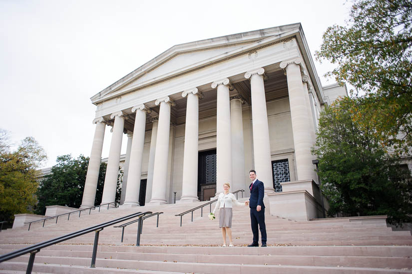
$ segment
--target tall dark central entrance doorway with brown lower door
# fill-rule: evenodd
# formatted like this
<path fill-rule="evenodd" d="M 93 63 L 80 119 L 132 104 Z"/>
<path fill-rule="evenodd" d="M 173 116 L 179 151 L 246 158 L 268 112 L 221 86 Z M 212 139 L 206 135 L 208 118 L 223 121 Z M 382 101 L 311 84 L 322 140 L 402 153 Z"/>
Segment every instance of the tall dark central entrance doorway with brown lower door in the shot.
<path fill-rule="evenodd" d="M 197 170 L 197 196 L 209 201 L 216 193 L 216 149 L 199 152 Z"/>

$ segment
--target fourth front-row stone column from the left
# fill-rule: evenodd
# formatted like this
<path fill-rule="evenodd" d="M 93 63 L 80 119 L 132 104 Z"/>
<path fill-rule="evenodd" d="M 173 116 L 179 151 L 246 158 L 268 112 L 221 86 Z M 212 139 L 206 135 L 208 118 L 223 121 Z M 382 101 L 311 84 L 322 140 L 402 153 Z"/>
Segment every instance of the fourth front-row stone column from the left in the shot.
<path fill-rule="evenodd" d="M 166 204 L 167 160 L 169 155 L 170 108 L 175 103 L 164 97 L 155 101 L 160 104 L 157 127 L 156 152 L 153 167 L 152 198 L 150 203 Z"/>

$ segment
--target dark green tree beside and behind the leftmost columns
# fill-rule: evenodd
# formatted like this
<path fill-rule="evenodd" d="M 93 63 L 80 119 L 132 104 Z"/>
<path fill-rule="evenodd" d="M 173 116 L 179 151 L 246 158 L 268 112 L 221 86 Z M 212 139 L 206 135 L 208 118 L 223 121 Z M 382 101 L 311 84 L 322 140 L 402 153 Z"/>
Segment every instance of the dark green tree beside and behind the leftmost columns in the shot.
<path fill-rule="evenodd" d="M 44 176 L 37 190 L 38 204 L 36 213 L 44 215 L 46 206 L 59 205 L 79 208 L 81 205 L 84 183 L 86 181 L 89 158 L 80 155 L 77 159 L 71 155 L 58 156 L 57 164 L 51 168 L 51 173 Z M 100 164 L 95 205 L 101 203 L 106 163 Z M 120 183 L 122 172 L 117 180 L 116 202 L 120 201 Z"/>

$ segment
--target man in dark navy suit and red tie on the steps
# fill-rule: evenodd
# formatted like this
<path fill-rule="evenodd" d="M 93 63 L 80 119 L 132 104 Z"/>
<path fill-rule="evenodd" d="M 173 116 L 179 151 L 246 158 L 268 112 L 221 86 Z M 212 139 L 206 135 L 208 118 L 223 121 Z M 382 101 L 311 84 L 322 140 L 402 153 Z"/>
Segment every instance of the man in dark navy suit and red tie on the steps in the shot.
<path fill-rule="evenodd" d="M 250 184 L 250 198 L 246 201 L 250 208 L 250 222 L 253 233 L 253 243 L 248 247 L 259 247 L 259 230 L 262 236 L 262 246 L 266 247 L 266 225 L 265 225 L 265 204 L 263 197 L 265 195 L 265 187 L 263 182 L 256 179 L 256 171 L 253 169 L 249 172 L 249 178 L 252 180 Z"/>

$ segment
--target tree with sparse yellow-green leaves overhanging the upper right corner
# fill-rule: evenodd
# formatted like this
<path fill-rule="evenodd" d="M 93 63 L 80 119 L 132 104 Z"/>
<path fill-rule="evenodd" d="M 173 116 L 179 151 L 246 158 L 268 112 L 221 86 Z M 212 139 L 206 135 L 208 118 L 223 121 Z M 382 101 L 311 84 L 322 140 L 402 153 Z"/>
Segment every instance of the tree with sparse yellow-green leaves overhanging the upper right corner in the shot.
<path fill-rule="evenodd" d="M 412 148 L 412 1 L 354 0 L 346 26 L 323 35 L 316 57 L 337 68 L 326 75 L 358 92 L 352 119 L 399 154 Z M 359 91 L 364 93 L 360 95 Z"/>

